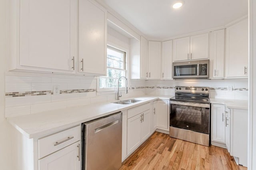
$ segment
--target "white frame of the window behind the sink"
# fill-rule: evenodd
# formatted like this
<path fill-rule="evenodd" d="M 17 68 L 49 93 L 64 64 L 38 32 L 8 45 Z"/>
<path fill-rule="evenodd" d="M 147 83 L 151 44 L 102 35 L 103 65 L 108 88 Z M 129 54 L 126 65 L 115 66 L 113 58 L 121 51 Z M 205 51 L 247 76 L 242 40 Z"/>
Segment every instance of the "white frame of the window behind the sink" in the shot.
<path fill-rule="evenodd" d="M 108 43 L 107 45 L 107 48 L 111 48 L 113 50 L 116 50 L 116 51 L 122 51 L 124 52 L 124 69 L 118 69 L 118 68 L 115 68 L 115 67 L 108 67 L 106 66 L 106 69 L 110 68 L 110 69 L 116 69 L 116 70 L 122 70 L 124 71 L 124 76 L 128 78 L 128 50 L 122 48 L 122 47 L 117 47 L 117 45 L 110 45 Z M 106 55 L 106 62 L 107 62 L 107 59 L 108 59 L 108 55 Z M 110 58 L 111 59 L 111 58 Z M 115 93 L 115 91 L 117 91 L 117 87 L 109 87 L 109 88 L 100 88 L 100 78 L 103 77 L 103 78 L 107 78 L 105 76 L 100 76 L 100 77 L 97 77 L 97 94 L 101 94 L 101 92 L 103 92 L 103 94 L 112 94 L 112 93 Z M 113 79 L 118 79 L 118 78 L 113 78 Z M 125 87 L 119 87 L 119 90 L 120 91 L 125 91 L 126 88 Z M 105 93 L 104 93 L 105 92 Z"/>

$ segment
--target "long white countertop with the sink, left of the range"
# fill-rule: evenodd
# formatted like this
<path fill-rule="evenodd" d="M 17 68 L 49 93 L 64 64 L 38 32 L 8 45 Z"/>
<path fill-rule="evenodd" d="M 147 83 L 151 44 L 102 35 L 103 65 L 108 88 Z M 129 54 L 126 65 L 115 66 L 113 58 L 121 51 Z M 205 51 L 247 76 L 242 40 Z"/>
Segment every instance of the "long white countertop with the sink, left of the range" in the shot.
<path fill-rule="evenodd" d="M 74 127 L 81 123 L 91 121 L 118 111 L 130 109 L 154 101 L 157 99 L 169 100 L 173 96 L 142 96 L 132 99 L 142 100 L 137 103 L 120 105 L 115 103 L 96 103 L 67 109 L 58 109 L 36 114 L 23 115 L 19 117 L 7 118 L 7 121 L 28 138 L 36 138 Z M 131 98 L 129 98 L 131 99 Z M 122 99 L 125 100 L 125 99 Z"/>

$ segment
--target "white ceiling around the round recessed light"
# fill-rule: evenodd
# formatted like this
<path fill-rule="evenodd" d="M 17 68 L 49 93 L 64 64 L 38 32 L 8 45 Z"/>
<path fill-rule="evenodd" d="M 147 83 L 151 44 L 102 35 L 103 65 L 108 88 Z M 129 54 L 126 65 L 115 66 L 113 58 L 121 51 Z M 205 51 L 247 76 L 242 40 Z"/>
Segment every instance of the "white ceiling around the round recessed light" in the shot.
<path fill-rule="evenodd" d="M 101 0 L 148 39 L 164 40 L 224 26 L 248 14 L 247 0 Z"/>

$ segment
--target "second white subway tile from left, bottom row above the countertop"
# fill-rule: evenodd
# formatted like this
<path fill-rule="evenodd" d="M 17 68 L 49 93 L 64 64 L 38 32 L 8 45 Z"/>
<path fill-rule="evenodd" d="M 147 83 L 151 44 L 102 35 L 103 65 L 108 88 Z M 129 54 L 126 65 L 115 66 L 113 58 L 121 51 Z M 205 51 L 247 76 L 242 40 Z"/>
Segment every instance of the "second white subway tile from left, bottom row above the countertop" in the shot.
<path fill-rule="evenodd" d="M 66 101 L 42 103 L 37 105 L 31 105 L 31 113 L 40 113 L 43 111 L 51 111 L 56 109 L 65 109 L 67 107 Z"/>

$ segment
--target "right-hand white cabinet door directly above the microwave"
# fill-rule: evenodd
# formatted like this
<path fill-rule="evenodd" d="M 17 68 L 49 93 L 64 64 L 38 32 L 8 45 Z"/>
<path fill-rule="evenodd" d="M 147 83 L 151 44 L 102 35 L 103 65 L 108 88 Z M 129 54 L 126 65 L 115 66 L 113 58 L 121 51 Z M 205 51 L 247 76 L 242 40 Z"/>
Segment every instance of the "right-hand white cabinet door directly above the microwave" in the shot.
<path fill-rule="evenodd" d="M 209 58 L 209 33 L 190 37 L 190 59 Z"/>

